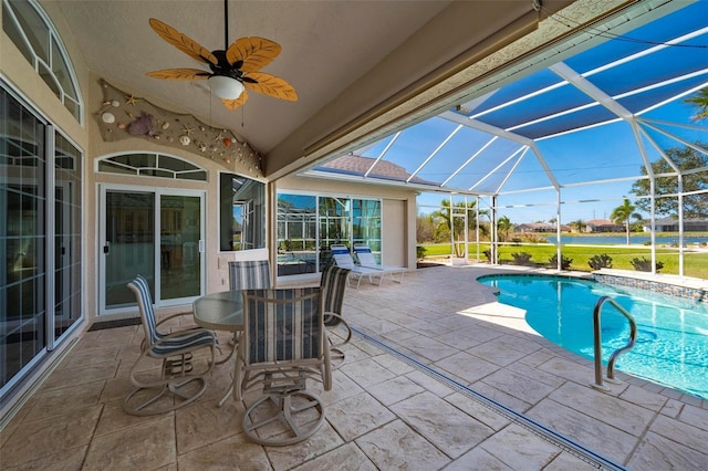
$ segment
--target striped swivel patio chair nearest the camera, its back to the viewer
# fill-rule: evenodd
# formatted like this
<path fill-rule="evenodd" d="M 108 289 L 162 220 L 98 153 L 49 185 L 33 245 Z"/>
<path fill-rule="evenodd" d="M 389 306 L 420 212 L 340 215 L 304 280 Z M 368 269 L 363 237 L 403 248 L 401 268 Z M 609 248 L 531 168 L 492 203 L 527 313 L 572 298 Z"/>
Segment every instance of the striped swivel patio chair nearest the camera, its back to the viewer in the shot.
<path fill-rule="evenodd" d="M 324 422 L 324 404 L 306 380 L 332 388 L 322 291 L 319 287 L 247 290 L 243 335 L 236 360 L 236 400 L 260 389 L 248 406 L 243 432 L 261 444 L 302 441 Z M 280 426 L 280 427 L 278 427 Z"/>

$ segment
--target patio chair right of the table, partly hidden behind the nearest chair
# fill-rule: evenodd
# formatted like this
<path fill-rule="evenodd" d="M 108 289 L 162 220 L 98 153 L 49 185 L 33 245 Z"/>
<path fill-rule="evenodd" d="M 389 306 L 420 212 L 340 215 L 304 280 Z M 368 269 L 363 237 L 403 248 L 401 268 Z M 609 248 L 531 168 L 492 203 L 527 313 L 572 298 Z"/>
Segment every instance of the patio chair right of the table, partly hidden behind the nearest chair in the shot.
<path fill-rule="evenodd" d="M 339 368 L 344 363 L 345 356 L 342 346 L 352 339 L 352 329 L 342 317 L 344 291 L 348 284 L 348 269 L 330 265 L 322 271 L 322 279 L 320 280 L 320 289 L 322 290 L 322 297 L 324 299 L 324 325 L 330 332 L 333 332 L 337 327 L 344 328 L 343 334 L 339 332 L 333 333 L 337 338 L 343 338 L 342 342 L 334 343 L 332 342 L 333 335 L 329 336 L 330 360 L 333 369 Z"/>

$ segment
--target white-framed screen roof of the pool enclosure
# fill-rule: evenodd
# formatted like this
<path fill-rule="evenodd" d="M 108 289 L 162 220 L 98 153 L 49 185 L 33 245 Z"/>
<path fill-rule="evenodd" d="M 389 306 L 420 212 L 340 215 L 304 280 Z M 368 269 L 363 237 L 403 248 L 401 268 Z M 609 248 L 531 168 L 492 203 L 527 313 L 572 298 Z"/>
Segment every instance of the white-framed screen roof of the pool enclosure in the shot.
<path fill-rule="evenodd" d="M 708 154 L 685 103 L 708 86 L 708 4 L 642 3 L 304 175 L 509 195 L 634 181 L 671 147 Z"/>

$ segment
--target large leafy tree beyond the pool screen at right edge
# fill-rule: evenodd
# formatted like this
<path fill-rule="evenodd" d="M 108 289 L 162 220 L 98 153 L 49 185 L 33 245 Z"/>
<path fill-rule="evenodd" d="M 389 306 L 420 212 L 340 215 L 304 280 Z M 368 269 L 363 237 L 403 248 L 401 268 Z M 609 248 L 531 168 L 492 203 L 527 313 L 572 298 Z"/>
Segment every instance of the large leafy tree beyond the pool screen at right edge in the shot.
<path fill-rule="evenodd" d="M 706 148 L 701 143 L 696 143 L 697 147 Z M 698 153 L 690 147 L 673 147 L 666 150 L 666 156 L 670 158 L 680 170 L 691 170 L 708 167 L 708 155 Z M 674 169 L 666 160 L 658 159 L 652 163 L 654 175 L 673 174 Z M 642 167 L 642 174 L 647 175 L 646 168 Z M 684 175 L 684 192 L 699 191 L 708 189 L 708 171 Z M 648 179 L 637 180 L 632 185 L 632 192 L 636 196 L 649 196 L 650 186 Z M 676 195 L 678 192 L 677 177 L 656 178 L 656 213 L 657 216 L 678 214 L 678 198 L 659 198 L 662 195 Z M 649 199 L 636 201 L 637 209 L 650 212 L 652 202 Z M 708 218 L 708 198 L 705 193 L 686 195 L 684 197 L 684 216 L 686 218 Z"/>

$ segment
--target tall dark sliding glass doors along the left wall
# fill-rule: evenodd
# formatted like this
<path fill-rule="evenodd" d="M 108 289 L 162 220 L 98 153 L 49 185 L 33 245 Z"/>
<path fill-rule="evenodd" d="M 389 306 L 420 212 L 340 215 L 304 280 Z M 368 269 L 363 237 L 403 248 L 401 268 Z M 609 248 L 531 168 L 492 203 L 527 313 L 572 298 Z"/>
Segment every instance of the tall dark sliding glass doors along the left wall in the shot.
<path fill-rule="evenodd" d="M 0 406 L 83 317 L 82 166 L 0 82 Z"/>

